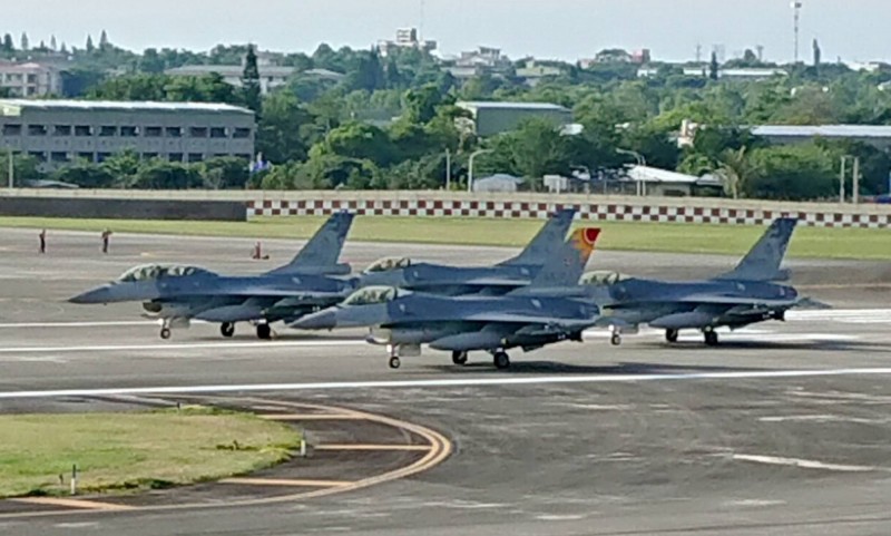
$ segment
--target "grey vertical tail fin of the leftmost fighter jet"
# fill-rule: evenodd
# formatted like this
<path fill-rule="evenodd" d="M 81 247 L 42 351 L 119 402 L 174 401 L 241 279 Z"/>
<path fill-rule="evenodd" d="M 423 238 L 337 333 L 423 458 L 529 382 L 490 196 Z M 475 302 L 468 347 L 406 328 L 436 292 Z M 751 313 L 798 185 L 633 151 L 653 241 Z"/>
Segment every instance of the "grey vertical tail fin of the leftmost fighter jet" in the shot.
<path fill-rule="evenodd" d="M 349 264 L 337 264 L 346 234 L 353 224 L 353 215 L 349 212 L 333 214 L 315 232 L 306 245 L 286 265 L 270 272 L 271 274 L 316 274 L 345 275 L 351 269 Z"/>

